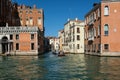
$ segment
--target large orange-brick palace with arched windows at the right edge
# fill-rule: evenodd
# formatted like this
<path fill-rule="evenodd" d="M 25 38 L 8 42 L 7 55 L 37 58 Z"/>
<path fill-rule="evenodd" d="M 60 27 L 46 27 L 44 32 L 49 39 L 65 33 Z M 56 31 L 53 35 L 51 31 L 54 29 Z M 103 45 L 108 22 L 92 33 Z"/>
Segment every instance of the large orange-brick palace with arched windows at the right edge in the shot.
<path fill-rule="evenodd" d="M 85 16 L 85 53 L 120 56 L 119 0 L 102 0 Z"/>

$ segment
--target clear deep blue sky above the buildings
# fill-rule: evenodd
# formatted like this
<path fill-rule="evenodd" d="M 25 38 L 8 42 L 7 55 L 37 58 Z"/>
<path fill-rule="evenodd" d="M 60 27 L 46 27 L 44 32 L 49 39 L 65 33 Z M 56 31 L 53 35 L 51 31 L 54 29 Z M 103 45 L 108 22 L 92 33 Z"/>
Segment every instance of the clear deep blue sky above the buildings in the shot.
<path fill-rule="evenodd" d="M 93 3 L 101 0 L 12 0 L 18 4 L 36 5 L 44 10 L 45 36 L 58 36 L 69 19 L 84 20 L 84 16 L 93 8 Z"/>

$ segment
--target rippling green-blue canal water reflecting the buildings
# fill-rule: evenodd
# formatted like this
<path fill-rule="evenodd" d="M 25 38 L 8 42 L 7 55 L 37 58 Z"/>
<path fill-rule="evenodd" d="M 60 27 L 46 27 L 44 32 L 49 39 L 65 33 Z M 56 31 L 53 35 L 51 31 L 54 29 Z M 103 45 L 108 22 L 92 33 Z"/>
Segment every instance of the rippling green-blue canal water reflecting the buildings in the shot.
<path fill-rule="evenodd" d="M 0 80 L 120 80 L 120 57 L 0 56 Z"/>

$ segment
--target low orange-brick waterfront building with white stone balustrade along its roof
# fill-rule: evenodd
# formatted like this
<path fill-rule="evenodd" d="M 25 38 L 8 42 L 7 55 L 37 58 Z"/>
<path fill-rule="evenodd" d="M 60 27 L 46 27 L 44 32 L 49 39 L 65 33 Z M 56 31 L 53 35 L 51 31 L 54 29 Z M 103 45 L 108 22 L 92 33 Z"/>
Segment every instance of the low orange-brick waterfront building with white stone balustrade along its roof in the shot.
<path fill-rule="evenodd" d="M 38 27 L 0 27 L 0 53 L 38 55 Z"/>

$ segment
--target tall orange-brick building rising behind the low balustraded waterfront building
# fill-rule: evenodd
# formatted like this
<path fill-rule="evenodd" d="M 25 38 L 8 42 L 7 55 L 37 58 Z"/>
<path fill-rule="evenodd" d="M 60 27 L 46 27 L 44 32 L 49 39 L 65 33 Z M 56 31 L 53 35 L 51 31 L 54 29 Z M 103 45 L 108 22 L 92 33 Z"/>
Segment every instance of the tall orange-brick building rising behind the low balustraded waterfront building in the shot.
<path fill-rule="evenodd" d="M 33 7 L 20 5 L 18 6 L 21 26 L 38 26 L 44 35 L 44 12 L 43 9 L 37 9 L 36 5 Z"/>

